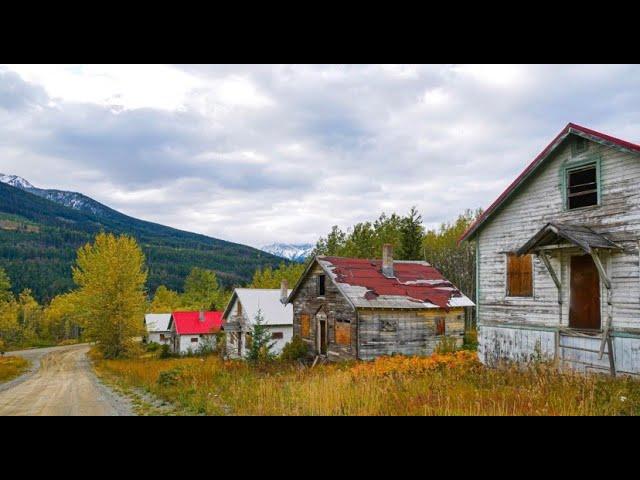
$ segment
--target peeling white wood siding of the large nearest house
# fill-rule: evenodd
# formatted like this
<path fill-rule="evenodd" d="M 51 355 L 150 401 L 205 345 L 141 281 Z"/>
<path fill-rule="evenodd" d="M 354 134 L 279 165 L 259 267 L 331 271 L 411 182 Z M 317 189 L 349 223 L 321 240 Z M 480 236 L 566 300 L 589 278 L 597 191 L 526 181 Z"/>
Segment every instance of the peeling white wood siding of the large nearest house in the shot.
<path fill-rule="evenodd" d="M 533 334 L 525 335 L 514 331 L 507 335 L 504 328 L 501 328 L 499 335 L 507 335 L 508 338 L 496 340 L 496 331 L 486 328 L 492 324 L 504 327 L 505 324 L 513 323 L 541 328 L 568 325 L 570 256 L 580 253 L 578 250 L 558 250 L 550 256 L 551 264 L 562 283 L 562 307 L 558 304 L 553 280 L 535 256 L 533 296 L 516 298 L 507 295 L 506 252 L 522 246 L 547 222 L 553 221 L 590 226 L 598 232 L 606 232 L 611 240 L 624 247 L 623 252 L 603 254 L 605 269 L 612 281 L 613 328 L 631 334 L 640 332 L 640 158 L 595 142 L 589 142 L 586 152 L 574 155 L 572 141 L 573 138 L 570 137 L 477 235 L 477 320 L 481 352 L 487 351 L 493 342 L 498 341 L 502 342 L 501 348 L 507 348 L 507 344 L 510 344 L 510 348 L 515 349 L 514 357 L 534 353 L 531 348 L 536 342 L 532 343 L 529 339 L 529 335 Z M 596 158 L 600 159 L 601 168 L 600 205 L 564 210 L 563 166 Z M 603 285 L 601 308 L 604 322 L 607 317 L 607 302 Z M 620 348 L 627 345 L 625 342 L 618 344 Z M 626 360 L 628 361 L 630 360 Z M 635 370 L 640 371 L 640 363 Z"/>

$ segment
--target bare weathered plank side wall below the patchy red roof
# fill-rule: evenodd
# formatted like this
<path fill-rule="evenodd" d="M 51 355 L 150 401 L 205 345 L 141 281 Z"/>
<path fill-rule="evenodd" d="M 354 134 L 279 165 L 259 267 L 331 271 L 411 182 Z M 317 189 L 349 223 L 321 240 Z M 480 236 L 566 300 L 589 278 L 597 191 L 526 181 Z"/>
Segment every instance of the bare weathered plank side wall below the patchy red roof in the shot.
<path fill-rule="evenodd" d="M 436 319 L 445 319 L 445 335 L 462 345 L 464 309 L 360 310 L 360 358 L 381 355 L 431 355 L 442 337 Z"/>

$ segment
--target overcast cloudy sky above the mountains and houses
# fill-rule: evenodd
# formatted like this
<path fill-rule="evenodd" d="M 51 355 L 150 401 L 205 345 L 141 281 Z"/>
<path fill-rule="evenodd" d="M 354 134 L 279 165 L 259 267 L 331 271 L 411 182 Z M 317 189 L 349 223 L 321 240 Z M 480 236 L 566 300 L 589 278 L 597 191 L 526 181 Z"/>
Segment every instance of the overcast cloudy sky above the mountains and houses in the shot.
<path fill-rule="evenodd" d="M 486 207 L 568 122 L 640 141 L 640 67 L 4 65 L 0 172 L 173 227 L 315 242 Z"/>

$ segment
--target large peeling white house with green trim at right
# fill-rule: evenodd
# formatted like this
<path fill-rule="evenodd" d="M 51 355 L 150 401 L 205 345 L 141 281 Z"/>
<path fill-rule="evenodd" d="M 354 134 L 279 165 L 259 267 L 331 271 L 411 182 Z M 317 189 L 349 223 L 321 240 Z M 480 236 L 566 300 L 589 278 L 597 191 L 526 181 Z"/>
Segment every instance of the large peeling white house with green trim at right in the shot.
<path fill-rule="evenodd" d="M 465 232 L 479 355 L 640 373 L 640 146 L 569 124 Z"/>

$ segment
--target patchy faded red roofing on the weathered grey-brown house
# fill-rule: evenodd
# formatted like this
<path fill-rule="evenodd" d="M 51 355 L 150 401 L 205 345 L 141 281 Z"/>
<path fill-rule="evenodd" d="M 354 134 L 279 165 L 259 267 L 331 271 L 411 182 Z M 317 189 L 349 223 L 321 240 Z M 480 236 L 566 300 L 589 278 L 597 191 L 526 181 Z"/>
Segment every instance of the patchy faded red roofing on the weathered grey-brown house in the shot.
<path fill-rule="evenodd" d="M 374 300 L 380 295 L 397 295 L 448 309 L 451 297 L 461 296 L 451 282 L 426 262 L 394 262 L 395 278 L 387 278 L 382 274 L 381 260 L 319 258 L 335 267 L 333 273 L 337 282 L 367 288 L 369 291 L 365 298 L 368 300 Z"/>

